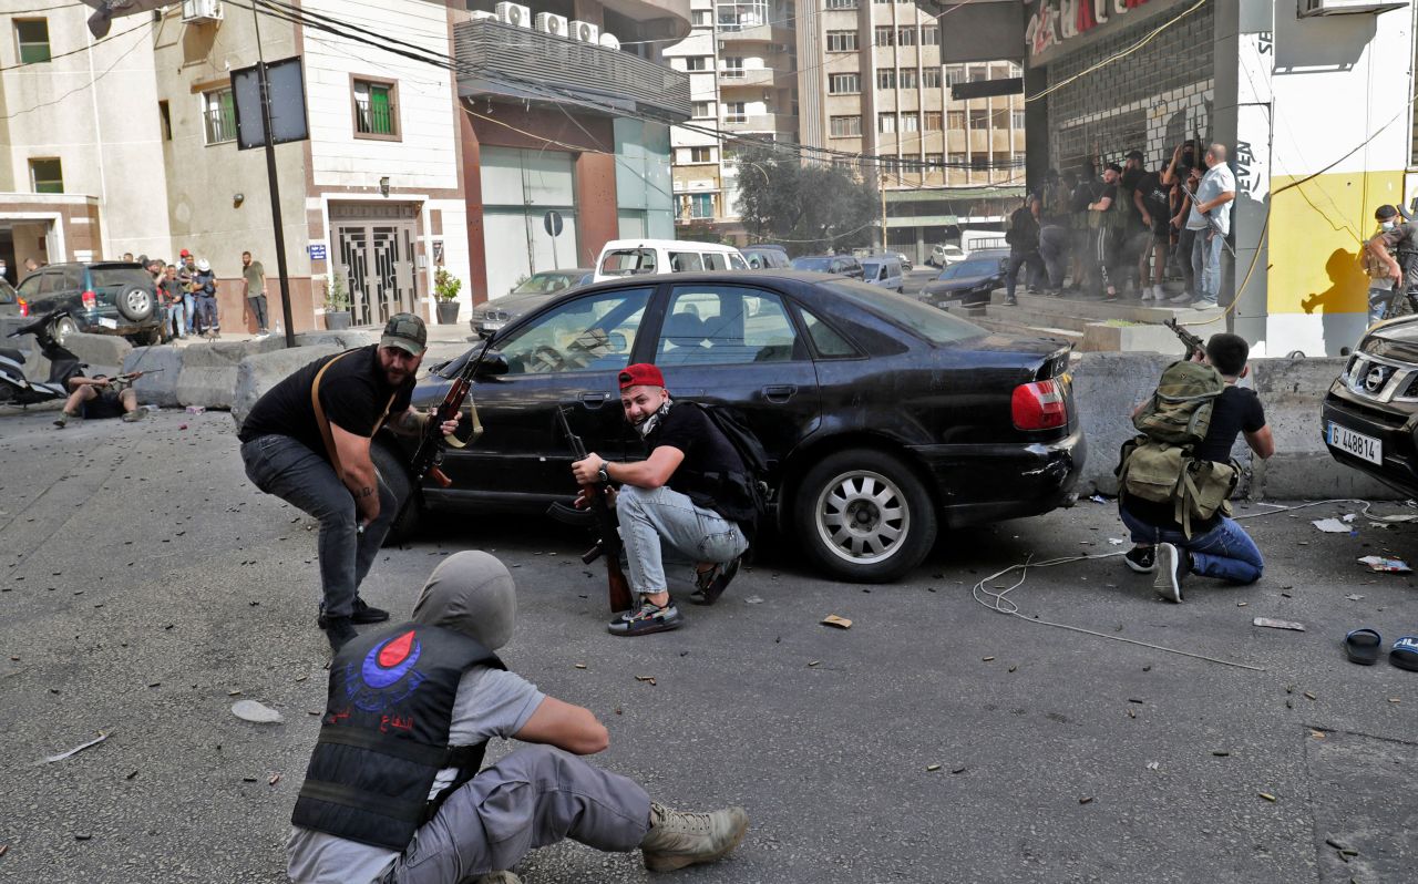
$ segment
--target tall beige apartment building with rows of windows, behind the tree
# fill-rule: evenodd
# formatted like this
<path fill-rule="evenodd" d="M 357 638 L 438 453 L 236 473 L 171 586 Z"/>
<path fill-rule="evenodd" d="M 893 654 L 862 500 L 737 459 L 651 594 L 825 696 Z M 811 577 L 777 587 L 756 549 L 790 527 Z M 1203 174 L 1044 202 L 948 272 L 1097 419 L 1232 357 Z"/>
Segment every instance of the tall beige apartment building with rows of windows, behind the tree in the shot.
<path fill-rule="evenodd" d="M 917 260 L 963 226 L 998 224 L 1024 193 L 1022 70 L 946 64 L 954 23 L 939 9 L 824 0 L 797 17 L 801 140 L 879 158 L 858 167 L 886 189 L 888 243 Z M 993 81 L 1010 94 L 951 95 Z"/>

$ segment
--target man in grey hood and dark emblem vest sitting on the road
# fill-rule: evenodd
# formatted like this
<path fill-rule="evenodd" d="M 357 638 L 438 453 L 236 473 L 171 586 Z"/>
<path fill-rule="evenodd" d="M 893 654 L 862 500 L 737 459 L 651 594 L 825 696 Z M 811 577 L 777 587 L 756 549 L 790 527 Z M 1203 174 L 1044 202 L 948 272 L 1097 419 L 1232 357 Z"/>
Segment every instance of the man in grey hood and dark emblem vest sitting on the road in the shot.
<path fill-rule="evenodd" d="M 610 735 L 590 709 L 503 667 L 493 651 L 515 617 L 502 562 L 459 552 L 428 578 L 411 621 L 336 654 L 288 843 L 292 881 L 516 884 L 508 870 L 529 850 L 567 837 L 640 847 L 652 871 L 719 860 L 739 844 L 742 807 L 671 810 L 577 758 L 604 751 Z M 478 770 L 492 736 L 540 745 Z M 417 800 L 394 795 L 407 783 Z"/>

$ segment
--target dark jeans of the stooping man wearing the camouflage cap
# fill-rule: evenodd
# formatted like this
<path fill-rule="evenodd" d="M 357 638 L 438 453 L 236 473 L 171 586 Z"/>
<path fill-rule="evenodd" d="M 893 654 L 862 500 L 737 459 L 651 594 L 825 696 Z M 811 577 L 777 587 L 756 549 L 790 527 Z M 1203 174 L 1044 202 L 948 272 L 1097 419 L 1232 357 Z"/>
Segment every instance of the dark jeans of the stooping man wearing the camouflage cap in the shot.
<path fill-rule="evenodd" d="M 289 436 L 259 436 L 241 446 L 247 478 L 267 494 L 320 519 L 320 590 L 329 617 L 349 617 L 354 596 L 364 582 L 384 535 L 394 521 L 398 501 L 379 482 L 379 518 L 356 531 L 354 498 L 335 475 L 330 463 Z"/>

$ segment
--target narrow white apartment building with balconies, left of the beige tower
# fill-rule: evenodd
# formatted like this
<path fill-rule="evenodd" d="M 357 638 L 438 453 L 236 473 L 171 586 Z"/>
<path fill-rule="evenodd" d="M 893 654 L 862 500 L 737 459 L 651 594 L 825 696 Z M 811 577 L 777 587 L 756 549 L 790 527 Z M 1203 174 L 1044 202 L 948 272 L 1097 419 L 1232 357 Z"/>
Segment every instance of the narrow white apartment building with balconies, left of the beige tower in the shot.
<path fill-rule="evenodd" d="M 735 140 L 797 142 L 793 10 L 791 0 L 691 0 L 689 37 L 664 53 L 689 77 L 696 126 L 671 131 L 682 236 L 746 241 Z"/>

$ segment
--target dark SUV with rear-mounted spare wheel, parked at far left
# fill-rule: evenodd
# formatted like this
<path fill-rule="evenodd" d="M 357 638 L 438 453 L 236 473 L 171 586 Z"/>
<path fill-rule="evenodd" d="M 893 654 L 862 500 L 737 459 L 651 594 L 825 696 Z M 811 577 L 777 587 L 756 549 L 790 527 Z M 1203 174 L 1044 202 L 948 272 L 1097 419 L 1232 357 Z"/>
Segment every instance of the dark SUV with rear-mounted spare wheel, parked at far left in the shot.
<path fill-rule="evenodd" d="M 48 264 L 20 282 L 30 314 L 58 312 L 50 335 L 61 345 L 72 332 L 123 335 L 157 343 L 162 315 L 152 275 L 133 261 Z"/>

